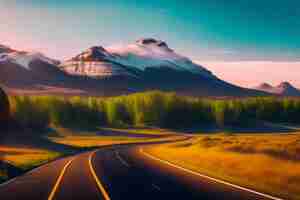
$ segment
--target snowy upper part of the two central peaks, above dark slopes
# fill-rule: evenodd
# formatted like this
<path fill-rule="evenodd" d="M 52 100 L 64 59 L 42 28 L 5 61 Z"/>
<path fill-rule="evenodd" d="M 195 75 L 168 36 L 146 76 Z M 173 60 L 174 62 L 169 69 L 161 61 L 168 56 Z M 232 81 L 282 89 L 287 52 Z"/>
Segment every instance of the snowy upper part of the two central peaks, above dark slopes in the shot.
<path fill-rule="evenodd" d="M 91 77 L 124 74 L 137 76 L 137 73 L 143 73 L 149 68 L 168 68 L 215 78 L 204 67 L 177 54 L 165 42 L 153 38 L 139 39 L 133 44 L 106 49 L 101 46 L 92 47 L 61 66 L 68 73 Z"/>

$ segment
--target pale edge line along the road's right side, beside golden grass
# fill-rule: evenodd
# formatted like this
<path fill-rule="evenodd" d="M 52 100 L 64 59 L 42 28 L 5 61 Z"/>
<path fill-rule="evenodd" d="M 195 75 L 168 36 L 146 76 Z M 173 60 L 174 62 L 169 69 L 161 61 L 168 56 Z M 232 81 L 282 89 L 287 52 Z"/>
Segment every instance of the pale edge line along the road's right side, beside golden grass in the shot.
<path fill-rule="evenodd" d="M 256 194 L 256 195 L 265 197 L 265 198 L 268 198 L 268 199 L 272 199 L 272 200 L 283 200 L 283 199 L 278 198 L 278 197 L 274 197 L 274 196 L 271 196 L 271 195 L 268 195 L 268 194 L 264 194 L 264 193 L 261 193 L 261 192 L 257 192 L 257 191 L 255 191 L 255 190 L 251 190 L 251 189 L 248 189 L 248 188 L 239 186 L 239 185 L 235 185 L 235 184 L 232 184 L 232 183 L 229 183 L 229 182 L 226 182 L 226 181 L 222 181 L 222 180 L 219 180 L 219 179 L 216 179 L 216 178 L 212 178 L 212 177 L 209 177 L 209 176 L 200 174 L 200 173 L 195 172 L 195 171 L 192 171 L 192 170 L 190 170 L 190 169 L 186 169 L 186 168 L 180 167 L 180 166 L 175 165 L 175 164 L 173 164 L 173 163 L 171 163 L 171 162 L 169 162 L 169 161 L 162 160 L 162 159 L 160 159 L 160 158 L 154 157 L 153 155 L 151 155 L 151 154 L 145 152 L 142 148 L 140 148 L 140 152 L 141 152 L 142 154 L 148 156 L 149 158 L 153 159 L 153 160 L 160 161 L 160 162 L 162 162 L 162 163 L 164 163 L 164 164 L 167 164 L 167 165 L 169 165 L 169 166 L 175 167 L 175 168 L 180 169 L 180 170 L 182 170 L 182 171 L 185 171 L 185 172 L 194 174 L 194 175 L 196 175 L 196 176 L 200 176 L 200 177 L 202 177 L 202 178 L 206 178 L 206 179 L 212 180 L 212 181 L 217 182 L 217 183 L 221 183 L 221 184 L 224 184 L 224 185 L 227 185 L 227 186 L 231 186 L 231 187 L 236 188 L 236 189 L 239 189 L 239 190 L 247 191 L 247 192 L 250 192 L 250 193 L 253 193 L 253 194 Z"/>

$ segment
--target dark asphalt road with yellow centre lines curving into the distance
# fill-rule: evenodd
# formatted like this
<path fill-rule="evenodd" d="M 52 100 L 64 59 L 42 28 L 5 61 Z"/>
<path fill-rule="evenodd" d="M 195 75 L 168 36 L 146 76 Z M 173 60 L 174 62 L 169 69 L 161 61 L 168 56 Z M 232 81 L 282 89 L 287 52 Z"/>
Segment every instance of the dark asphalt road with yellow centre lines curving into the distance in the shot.
<path fill-rule="evenodd" d="M 1 200 L 276 199 L 199 176 L 142 148 L 115 145 L 54 161 L 1 185 Z"/>

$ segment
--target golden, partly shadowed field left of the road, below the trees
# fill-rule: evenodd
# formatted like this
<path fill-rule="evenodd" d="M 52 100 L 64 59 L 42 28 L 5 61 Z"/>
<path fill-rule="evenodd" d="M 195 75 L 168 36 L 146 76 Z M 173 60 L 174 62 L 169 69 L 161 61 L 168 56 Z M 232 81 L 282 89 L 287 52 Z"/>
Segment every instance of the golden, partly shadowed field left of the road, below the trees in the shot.
<path fill-rule="evenodd" d="M 52 127 L 48 135 L 32 133 L 24 137 L 13 137 L 8 142 L 0 143 L 0 182 L 20 175 L 34 167 L 56 158 L 76 152 L 112 144 L 143 143 L 166 141 L 178 137 L 168 137 L 168 133 L 155 129 L 109 129 L 106 135 L 98 131 L 79 131 L 74 129 Z M 109 135 L 114 130 L 113 135 Z M 109 132 L 107 132 L 109 131 Z M 122 134 L 116 135 L 119 131 Z M 145 131 L 145 134 L 143 134 Z M 139 137 L 135 137 L 138 134 Z M 149 135 L 151 134 L 151 135 Z M 166 137 L 151 137 L 153 135 Z M 31 139 L 28 139 L 30 138 Z M 26 141 L 26 142 L 25 142 Z"/>

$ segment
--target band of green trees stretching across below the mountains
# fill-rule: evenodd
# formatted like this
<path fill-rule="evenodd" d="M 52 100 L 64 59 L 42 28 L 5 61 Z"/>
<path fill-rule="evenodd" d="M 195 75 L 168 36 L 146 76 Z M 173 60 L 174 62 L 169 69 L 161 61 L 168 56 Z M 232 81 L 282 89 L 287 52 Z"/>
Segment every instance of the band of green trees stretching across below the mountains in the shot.
<path fill-rule="evenodd" d="M 213 100 L 146 92 L 111 98 L 12 96 L 12 117 L 22 126 L 184 128 L 300 123 L 300 99 L 255 97 Z M 30 116 L 30 117 L 29 117 Z"/>

